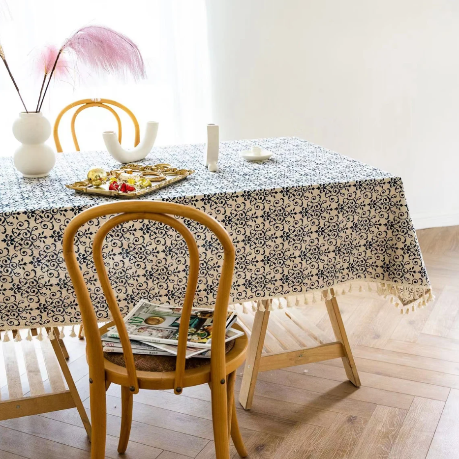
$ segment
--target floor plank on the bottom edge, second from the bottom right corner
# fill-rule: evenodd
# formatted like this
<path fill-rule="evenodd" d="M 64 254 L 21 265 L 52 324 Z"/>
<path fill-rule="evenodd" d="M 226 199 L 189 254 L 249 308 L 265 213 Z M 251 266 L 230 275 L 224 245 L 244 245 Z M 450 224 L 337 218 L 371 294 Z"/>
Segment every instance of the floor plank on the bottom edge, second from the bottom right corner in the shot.
<path fill-rule="evenodd" d="M 425 459 L 445 403 L 416 397 L 388 459 Z"/>

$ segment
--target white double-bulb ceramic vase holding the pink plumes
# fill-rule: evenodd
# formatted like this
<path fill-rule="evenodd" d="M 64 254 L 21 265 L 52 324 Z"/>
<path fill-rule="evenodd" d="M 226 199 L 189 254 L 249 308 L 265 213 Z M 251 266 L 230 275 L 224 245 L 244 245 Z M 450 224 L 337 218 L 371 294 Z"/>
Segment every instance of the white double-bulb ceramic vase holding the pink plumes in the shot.
<path fill-rule="evenodd" d="M 56 154 L 45 145 L 51 135 L 51 124 L 43 114 L 21 112 L 13 122 L 13 135 L 22 144 L 13 156 L 16 169 L 24 177 L 49 175 L 56 163 Z"/>

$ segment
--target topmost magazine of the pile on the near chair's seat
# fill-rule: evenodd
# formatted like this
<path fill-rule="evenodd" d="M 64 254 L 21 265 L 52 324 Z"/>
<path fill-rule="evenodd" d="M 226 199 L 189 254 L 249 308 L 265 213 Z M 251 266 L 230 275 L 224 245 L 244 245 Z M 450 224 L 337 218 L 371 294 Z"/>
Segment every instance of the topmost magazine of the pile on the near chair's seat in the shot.
<path fill-rule="evenodd" d="M 167 350 L 169 353 L 176 355 L 179 326 L 182 320 L 181 314 L 181 307 L 153 304 L 146 300 L 140 300 L 132 311 L 124 317 L 127 334 L 132 340 L 148 343 L 157 348 L 159 348 L 158 344 L 161 344 L 160 348 L 162 350 Z M 194 351 L 197 351 L 196 348 L 198 348 L 202 350 L 201 352 L 204 352 L 211 348 L 213 319 L 214 309 L 193 308 L 191 310 L 187 345 L 193 348 Z M 243 335 L 243 332 L 230 328 L 236 320 L 237 315 L 233 311 L 228 311 L 226 341 Z M 106 333 L 106 337 L 119 338 L 116 327 L 110 328 Z M 172 347 L 167 348 L 164 346 L 166 344 Z"/>

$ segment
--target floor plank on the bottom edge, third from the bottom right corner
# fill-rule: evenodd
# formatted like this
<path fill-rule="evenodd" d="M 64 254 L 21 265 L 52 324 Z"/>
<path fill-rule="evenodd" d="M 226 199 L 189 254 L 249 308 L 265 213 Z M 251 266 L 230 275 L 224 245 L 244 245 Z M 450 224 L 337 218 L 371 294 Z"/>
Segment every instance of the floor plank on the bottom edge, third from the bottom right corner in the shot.
<path fill-rule="evenodd" d="M 378 405 L 349 459 L 388 458 L 405 415 L 405 410 Z"/>

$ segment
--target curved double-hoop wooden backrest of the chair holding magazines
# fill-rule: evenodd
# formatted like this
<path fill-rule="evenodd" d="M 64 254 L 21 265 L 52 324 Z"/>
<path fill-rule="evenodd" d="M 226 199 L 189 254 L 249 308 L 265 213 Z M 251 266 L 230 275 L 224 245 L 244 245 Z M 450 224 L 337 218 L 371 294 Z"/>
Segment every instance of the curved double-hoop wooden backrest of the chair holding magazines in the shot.
<path fill-rule="evenodd" d="M 148 219 L 164 223 L 165 225 L 168 225 L 178 231 L 183 236 L 185 243 L 188 246 L 189 274 L 182 309 L 182 320 L 180 321 L 179 327 L 179 344 L 174 383 L 174 392 L 176 394 L 180 394 L 182 392 L 182 388 L 184 387 L 186 341 L 188 337 L 189 317 L 199 274 L 199 253 L 193 235 L 181 220 L 174 218 L 174 215 L 189 218 L 201 223 L 210 229 L 220 241 L 223 246 L 224 256 L 215 300 L 211 345 L 211 371 L 214 375 L 218 375 L 218 378 L 225 378 L 226 312 L 228 308 L 235 262 L 235 251 L 231 238 L 220 223 L 198 209 L 184 206 L 182 204 L 152 201 L 117 202 L 95 206 L 75 216 L 65 228 L 63 235 L 64 259 L 75 288 L 78 305 L 80 306 L 81 316 L 83 319 L 88 347 L 87 355 L 90 366 L 90 376 L 92 369 L 94 369 L 94 371 L 97 371 L 97 369 L 103 370 L 103 352 L 97 319 L 92 307 L 90 294 L 75 255 L 75 235 L 81 226 L 88 221 L 101 216 L 113 214 L 116 215 L 111 216 L 111 218 L 101 225 L 96 232 L 92 245 L 92 253 L 102 290 L 107 300 L 113 321 L 115 322 L 120 335 L 129 385 L 132 387 L 131 391 L 134 393 L 139 391 L 132 348 L 127 336 L 126 327 L 122 320 L 116 295 L 113 292 L 107 275 L 102 254 L 102 246 L 109 231 L 120 223 L 130 220 Z"/>

